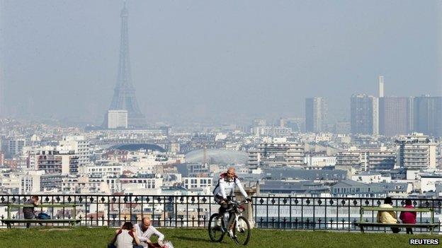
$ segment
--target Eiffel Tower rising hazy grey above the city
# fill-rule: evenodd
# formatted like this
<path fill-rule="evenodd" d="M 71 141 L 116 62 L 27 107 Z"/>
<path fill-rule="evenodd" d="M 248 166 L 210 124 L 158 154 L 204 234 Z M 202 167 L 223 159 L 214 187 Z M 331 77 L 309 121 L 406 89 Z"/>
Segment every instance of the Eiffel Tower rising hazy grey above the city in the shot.
<path fill-rule="evenodd" d="M 135 98 L 135 88 L 132 85 L 130 75 L 129 59 L 129 39 L 128 39 L 128 8 L 124 2 L 121 10 L 121 40 L 120 40 L 120 61 L 118 63 L 118 79 L 115 85 L 111 107 L 109 110 L 127 110 L 128 126 L 145 126 L 146 120 L 144 114 L 138 107 L 137 98 Z M 107 114 L 106 114 L 107 117 Z M 106 122 L 105 118 L 105 122 Z M 107 123 L 105 123 L 106 125 Z"/>

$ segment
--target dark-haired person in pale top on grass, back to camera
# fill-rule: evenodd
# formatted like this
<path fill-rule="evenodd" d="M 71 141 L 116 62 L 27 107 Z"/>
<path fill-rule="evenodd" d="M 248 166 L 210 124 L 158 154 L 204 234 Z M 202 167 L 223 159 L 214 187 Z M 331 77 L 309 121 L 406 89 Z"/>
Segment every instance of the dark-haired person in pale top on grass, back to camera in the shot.
<path fill-rule="evenodd" d="M 137 229 L 132 223 L 126 222 L 120 229 L 115 230 L 115 236 L 108 244 L 108 248 L 143 248 L 143 246 L 138 240 Z"/>

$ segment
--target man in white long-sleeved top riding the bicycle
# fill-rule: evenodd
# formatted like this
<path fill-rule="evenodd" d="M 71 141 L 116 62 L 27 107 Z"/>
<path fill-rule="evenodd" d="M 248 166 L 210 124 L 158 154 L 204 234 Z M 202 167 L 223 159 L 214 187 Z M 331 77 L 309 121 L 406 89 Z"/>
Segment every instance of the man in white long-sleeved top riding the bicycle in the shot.
<path fill-rule="evenodd" d="M 229 170 L 227 170 L 227 172 L 220 175 L 218 184 L 215 189 L 213 189 L 215 201 L 220 204 L 219 213 L 221 218 L 217 220 L 218 226 L 221 225 L 222 217 L 229 207 L 229 201 L 232 199 L 235 187 L 238 187 L 239 191 L 241 191 L 241 194 L 246 198 L 246 201 L 251 201 L 249 196 L 247 196 L 244 187 L 242 187 L 241 182 L 239 182 L 238 176 L 235 174 L 234 167 L 229 167 Z M 228 232 L 230 237 L 233 237 L 232 227 L 233 225 L 229 226 Z"/>

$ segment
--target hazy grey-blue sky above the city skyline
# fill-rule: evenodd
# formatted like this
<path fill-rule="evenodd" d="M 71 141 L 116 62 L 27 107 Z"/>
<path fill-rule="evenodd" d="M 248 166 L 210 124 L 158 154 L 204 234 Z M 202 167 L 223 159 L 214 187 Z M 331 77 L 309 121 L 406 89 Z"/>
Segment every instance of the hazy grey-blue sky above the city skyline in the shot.
<path fill-rule="evenodd" d="M 4 113 L 101 124 L 123 1 L 0 0 Z M 348 119 L 353 93 L 441 95 L 441 1 L 129 0 L 132 81 L 151 122 Z"/>

